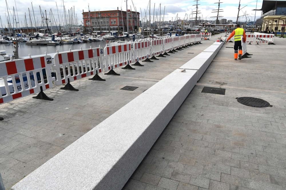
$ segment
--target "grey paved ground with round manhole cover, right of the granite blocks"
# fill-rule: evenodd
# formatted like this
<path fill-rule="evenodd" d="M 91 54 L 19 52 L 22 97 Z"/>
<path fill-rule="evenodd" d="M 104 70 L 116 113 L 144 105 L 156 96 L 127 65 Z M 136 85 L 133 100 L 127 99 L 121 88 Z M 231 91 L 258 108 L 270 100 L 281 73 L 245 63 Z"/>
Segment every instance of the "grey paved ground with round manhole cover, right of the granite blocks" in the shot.
<path fill-rule="evenodd" d="M 286 189 L 285 42 L 247 45 L 241 61 L 225 44 L 123 189 Z M 273 107 L 235 99 L 245 96 Z"/>

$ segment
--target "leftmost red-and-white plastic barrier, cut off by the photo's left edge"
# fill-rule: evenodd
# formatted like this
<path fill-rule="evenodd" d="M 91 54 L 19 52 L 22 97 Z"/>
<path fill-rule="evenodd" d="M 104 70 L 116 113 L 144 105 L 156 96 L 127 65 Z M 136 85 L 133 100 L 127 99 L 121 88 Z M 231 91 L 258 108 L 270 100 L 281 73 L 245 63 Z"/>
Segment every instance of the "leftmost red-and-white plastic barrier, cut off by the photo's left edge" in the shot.
<path fill-rule="evenodd" d="M 51 60 L 46 54 L 0 62 L 0 104 L 52 87 Z"/>

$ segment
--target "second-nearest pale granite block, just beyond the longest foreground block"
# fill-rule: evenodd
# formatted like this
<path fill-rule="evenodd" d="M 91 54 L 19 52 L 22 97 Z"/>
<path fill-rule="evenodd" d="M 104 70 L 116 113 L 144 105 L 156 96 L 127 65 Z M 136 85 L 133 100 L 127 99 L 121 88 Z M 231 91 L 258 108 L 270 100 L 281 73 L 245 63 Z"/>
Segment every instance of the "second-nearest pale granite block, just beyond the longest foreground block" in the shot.
<path fill-rule="evenodd" d="M 199 80 L 204 71 L 206 71 L 206 69 L 212 62 L 213 58 L 214 58 L 214 52 L 201 52 L 196 57 L 192 58 L 190 61 L 182 65 L 180 69 L 197 70 L 198 71 L 197 80 Z"/>

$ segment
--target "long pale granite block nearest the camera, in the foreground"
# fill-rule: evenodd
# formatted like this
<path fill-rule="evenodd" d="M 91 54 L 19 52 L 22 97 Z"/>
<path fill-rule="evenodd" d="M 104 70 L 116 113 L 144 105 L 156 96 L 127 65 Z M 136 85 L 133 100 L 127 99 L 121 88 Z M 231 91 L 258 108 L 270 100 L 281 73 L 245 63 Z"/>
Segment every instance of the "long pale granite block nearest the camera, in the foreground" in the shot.
<path fill-rule="evenodd" d="M 122 189 L 194 87 L 196 73 L 175 70 L 12 189 Z"/>

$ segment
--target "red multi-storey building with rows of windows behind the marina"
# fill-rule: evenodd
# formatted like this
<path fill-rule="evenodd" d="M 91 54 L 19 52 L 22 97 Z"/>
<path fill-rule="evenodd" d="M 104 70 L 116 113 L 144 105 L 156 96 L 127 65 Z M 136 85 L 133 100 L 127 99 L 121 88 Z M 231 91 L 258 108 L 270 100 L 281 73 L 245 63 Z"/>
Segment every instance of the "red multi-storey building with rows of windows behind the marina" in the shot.
<path fill-rule="evenodd" d="M 90 11 L 82 10 L 82 18 L 85 32 L 127 32 L 138 30 L 140 27 L 140 13 L 127 10 L 128 24 L 126 11 L 111 10 L 111 11 Z"/>

